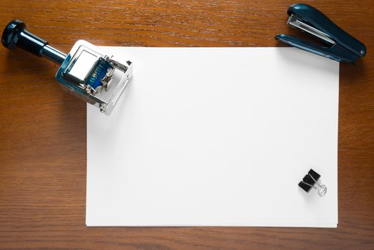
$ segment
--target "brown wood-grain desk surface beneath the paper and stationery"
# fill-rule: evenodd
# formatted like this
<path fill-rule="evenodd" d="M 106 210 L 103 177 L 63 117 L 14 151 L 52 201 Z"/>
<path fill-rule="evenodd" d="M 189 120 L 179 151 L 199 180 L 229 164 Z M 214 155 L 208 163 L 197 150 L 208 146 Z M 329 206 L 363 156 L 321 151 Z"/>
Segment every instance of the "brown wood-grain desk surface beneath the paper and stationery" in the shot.
<path fill-rule="evenodd" d="M 308 2 L 308 1 L 307 1 Z M 61 51 L 106 46 L 281 46 L 293 1 L 8 1 L 14 18 Z M 86 104 L 57 66 L 0 48 L 1 249 L 374 249 L 374 1 L 313 1 L 368 47 L 340 65 L 338 229 L 87 228 Z"/>

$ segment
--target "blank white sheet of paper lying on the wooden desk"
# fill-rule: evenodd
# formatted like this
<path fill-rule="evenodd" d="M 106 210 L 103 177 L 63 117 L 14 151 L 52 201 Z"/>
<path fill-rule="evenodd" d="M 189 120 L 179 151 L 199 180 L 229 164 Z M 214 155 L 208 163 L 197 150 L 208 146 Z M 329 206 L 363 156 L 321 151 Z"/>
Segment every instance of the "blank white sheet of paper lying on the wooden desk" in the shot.
<path fill-rule="evenodd" d="M 87 106 L 87 226 L 338 224 L 338 71 L 293 48 L 103 48 L 133 61 Z M 313 168 L 325 196 L 298 182 Z"/>

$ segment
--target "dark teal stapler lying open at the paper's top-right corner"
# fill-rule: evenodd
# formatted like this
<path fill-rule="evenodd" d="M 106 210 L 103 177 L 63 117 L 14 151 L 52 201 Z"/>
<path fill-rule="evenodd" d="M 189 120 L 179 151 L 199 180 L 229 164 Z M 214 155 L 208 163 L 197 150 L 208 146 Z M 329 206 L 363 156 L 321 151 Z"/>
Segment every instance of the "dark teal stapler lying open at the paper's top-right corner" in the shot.
<path fill-rule="evenodd" d="M 353 64 L 356 59 L 365 56 L 365 44 L 340 29 L 318 9 L 308 4 L 293 4 L 287 14 L 290 16 L 287 21 L 289 26 L 317 37 L 325 45 L 318 46 L 283 34 L 276 35 L 276 40 L 339 62 Z"/>

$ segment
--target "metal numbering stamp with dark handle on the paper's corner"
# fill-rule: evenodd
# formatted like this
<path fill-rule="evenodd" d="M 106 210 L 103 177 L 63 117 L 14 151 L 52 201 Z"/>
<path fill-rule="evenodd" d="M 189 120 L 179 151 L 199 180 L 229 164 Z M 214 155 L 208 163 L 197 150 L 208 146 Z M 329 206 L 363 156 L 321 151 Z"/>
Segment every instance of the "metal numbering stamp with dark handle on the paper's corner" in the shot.
<path fill-rule="evenodd" d="M 11 21 L 4 29 L 1 43 L 8 49 L 19 46 L 59 64 L 56 79 L 61 86 L 105 114 L 111 113 L 133 76 L 131 61 L 117 61 L 113 55 L 83 40 L 77 41 L 66 55 L 26 31 L 23 21 Z"/>

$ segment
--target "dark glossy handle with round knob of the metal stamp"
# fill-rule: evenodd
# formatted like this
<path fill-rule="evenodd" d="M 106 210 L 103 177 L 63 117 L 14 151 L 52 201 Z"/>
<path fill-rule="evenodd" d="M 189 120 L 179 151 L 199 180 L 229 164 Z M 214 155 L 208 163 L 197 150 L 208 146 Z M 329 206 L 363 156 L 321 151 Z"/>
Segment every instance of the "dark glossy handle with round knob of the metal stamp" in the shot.
<path fill-rule="evenodd" d="M 44 56 L 57 64 L 61 64 L 66 58 L 66 54 L 49 46 L 48 41 L 26 31 L 26 24 L 18 19 L 14 19 L 6 25 L 1 36 L 1 44 L 7 49 L 19 46 L 31 54 Z"/>

